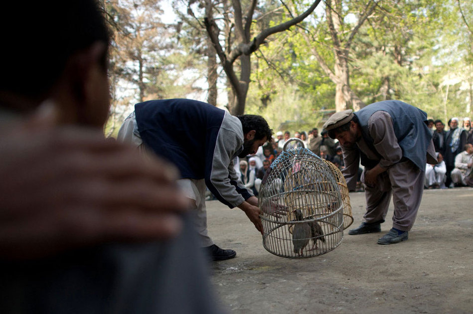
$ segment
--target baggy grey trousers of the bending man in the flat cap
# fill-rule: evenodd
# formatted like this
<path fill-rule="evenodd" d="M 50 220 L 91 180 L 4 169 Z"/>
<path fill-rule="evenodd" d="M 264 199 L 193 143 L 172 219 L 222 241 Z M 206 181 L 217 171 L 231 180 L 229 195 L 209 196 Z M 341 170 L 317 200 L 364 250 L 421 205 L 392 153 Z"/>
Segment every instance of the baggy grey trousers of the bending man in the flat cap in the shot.
<path fill-rule="evenodd" d="M 364 171 L 361 177 L 364 182 Z M 391 194 L 394 201 L 393 227 L 402 231 L 411 230 L 424 192 L 425 171 L 412 161 L 399 162 L 378 176 L 378 184 L 365 184 L 367 223 L 385 221 Z"/>

